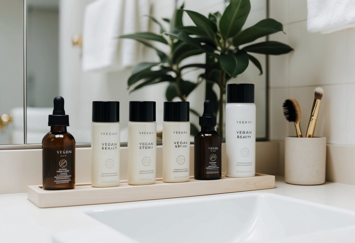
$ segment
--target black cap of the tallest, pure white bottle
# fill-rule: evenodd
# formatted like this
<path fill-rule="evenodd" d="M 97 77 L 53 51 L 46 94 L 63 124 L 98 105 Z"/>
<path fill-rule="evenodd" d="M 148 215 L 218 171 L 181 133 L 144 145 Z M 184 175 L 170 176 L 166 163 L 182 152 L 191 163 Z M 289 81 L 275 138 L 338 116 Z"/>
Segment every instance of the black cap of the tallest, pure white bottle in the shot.
<path fill-rule="evenodd" d="M 228 84 L 227 103 L 254 103 L 254 84 Z"/>

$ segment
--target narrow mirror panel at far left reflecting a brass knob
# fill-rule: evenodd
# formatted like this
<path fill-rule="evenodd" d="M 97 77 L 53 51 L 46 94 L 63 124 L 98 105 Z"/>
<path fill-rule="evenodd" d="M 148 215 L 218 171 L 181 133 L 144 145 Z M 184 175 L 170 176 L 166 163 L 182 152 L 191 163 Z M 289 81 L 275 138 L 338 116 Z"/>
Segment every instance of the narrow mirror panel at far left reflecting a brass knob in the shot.
<path fill-rule="evenodd" d="M 23 2 L 0 0 L 0 144 L 23 144 Z"/>

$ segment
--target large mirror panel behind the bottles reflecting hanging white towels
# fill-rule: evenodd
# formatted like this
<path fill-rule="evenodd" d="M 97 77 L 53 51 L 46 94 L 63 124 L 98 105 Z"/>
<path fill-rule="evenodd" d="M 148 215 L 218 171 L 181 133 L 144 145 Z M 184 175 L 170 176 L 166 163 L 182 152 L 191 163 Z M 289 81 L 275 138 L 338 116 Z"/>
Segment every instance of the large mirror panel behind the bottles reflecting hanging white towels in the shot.
<path fill-rule="evenodd" d="M 131 93 L 127 91 L 131 67 L 138 62 L 155 62 L 159 58 L 154 50 L 134 40 L 115 37 L 147 31 L 159 34 L 160 27 L 144 15 L 171 18 L 175 4 L 181 5 L 182 1 L 117 1 L 117 6 L 106 6 L 103 2 L 27 0 L 27 143 L 41 143 L 49 131 L 48 114 L 52 112 L 53 98 L 57 95 L 65 99 L 70 120 L 68 131 L 77 143 L 90 142 L 92 101 L 95 100 L 120 101 L 121 142 L 127 142 L 129 101 L 156 101 L 157 130 L 162 131 L 163 102 L 169 83 L 145 86 Z M 225 8 L 224 0 L 184 2 L 185 9 L 204 15 L 223 12 Z M 266 1 L 252 1 L 244 27 L 264 18 Z M 183 20 L 192 24 L 186 14 Z M 164 21 L 163 24 L 168 26 Z M 168 52 L 166 46 L 158 47 Z M 264 56 L 257 58 L 265 70 Z M 184 64 L 204 60 L 205 56 L 201 54 L 189 57 Z M 195 83 L 201 73 L 201 69 L 186 69 L 186 77 Z M 230 82 L 256 85 L 257 137 L 263 138 L 266 137 L 266 76 L 258 74 L 257 68 L 249 65 L 245 73 Z M 203 112 L 204 93 L 202 82 L 187 97 L 190 107 L 199 114 Z M 179 98 L 175 100 L 179 101 Z M 198 127 L 197 115 L 191 113 L 190 121 Z"/>

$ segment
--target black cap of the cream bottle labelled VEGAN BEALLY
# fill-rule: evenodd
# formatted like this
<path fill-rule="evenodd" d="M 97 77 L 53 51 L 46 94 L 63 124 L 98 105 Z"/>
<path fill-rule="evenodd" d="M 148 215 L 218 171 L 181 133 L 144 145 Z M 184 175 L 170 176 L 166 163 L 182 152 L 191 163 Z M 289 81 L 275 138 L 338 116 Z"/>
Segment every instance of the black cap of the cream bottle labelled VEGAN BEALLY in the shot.
<path fill-rule="evenodd" d="M 119 122 L 120 102 L 118 101 L 93 101 L 93 122 Z"/>

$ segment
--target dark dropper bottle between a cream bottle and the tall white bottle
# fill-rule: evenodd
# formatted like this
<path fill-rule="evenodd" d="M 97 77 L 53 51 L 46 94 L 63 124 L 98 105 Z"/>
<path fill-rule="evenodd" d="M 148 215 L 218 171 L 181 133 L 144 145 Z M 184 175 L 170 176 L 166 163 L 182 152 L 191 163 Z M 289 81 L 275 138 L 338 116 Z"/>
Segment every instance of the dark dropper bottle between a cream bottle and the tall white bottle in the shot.
<path fill-rule="evenodd" d="M 199 120 L 201 131 L 195 136 L 195 179 L 218 180 L 222 176 L 222 139 L 214 130 L 217 118 L 213 102 L 206 100 Z"/>

